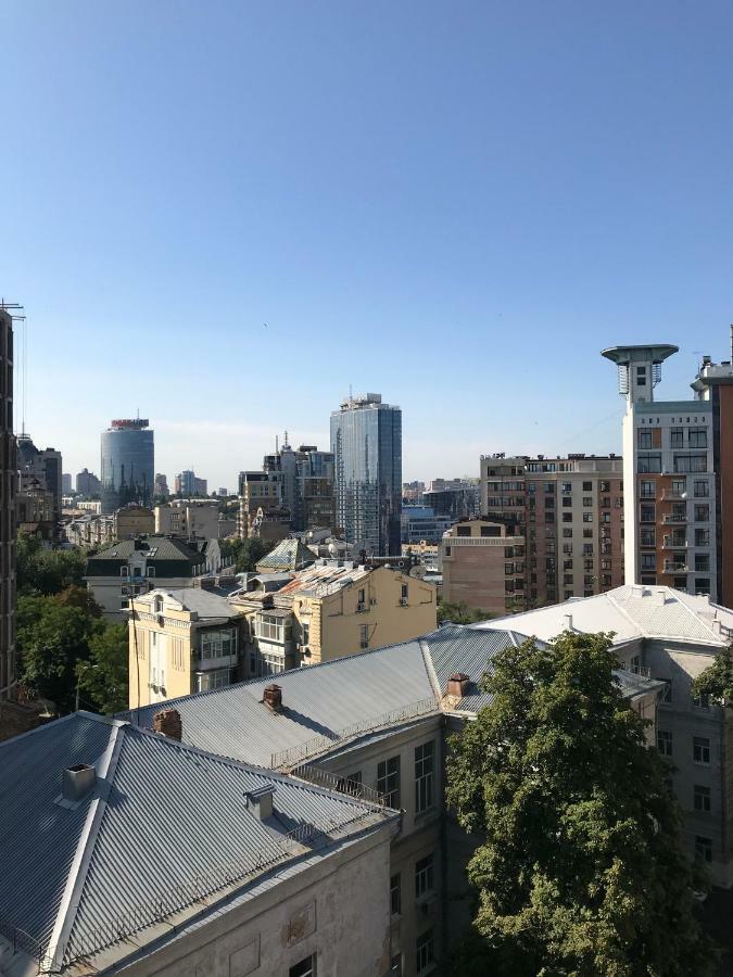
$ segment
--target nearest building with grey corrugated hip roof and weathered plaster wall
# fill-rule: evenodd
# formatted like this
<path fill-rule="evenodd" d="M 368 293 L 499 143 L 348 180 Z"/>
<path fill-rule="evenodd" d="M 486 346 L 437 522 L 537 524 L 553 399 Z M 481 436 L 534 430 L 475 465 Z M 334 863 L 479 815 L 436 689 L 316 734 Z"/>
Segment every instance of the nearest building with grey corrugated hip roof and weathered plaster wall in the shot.
<path fill-rule="evenodd" d="M 387 977 L 399 812 L 180 738 L 77 712 L 0 745 L 2 973 Z"/>

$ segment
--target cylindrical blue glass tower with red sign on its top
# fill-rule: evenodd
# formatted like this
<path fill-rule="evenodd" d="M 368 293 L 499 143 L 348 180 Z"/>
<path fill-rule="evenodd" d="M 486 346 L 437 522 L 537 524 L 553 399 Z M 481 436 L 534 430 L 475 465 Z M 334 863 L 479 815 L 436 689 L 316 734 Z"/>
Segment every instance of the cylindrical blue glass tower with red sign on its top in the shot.
<path fill-rule="evenodd" d="M 153 500 L 155 449 L 147 418 L 113 420 L 102 433 L 102 512 Z"/>

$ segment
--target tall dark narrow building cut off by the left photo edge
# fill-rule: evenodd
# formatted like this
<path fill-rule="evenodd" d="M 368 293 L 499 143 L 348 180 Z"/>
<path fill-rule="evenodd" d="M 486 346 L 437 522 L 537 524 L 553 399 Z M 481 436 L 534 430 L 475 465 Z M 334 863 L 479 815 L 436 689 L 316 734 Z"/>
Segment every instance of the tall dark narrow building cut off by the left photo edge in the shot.
<path fill-rule="evenodd" d="M 15 698 L 13 319 L 0 307 L 0 701 Z"/>

